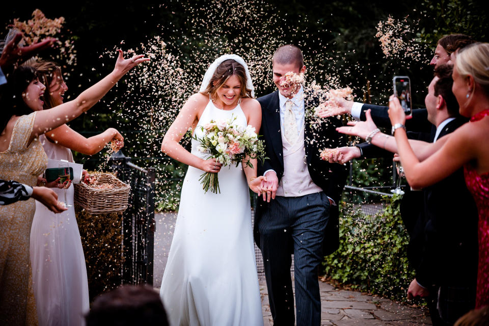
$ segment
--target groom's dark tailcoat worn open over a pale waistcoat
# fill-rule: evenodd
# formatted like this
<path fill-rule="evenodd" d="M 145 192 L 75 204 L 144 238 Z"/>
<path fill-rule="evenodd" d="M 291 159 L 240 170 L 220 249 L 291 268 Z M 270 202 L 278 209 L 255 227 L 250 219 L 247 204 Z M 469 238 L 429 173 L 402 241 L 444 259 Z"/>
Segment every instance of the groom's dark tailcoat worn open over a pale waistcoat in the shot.
<path fill-rule="evenodd" d="M 263 135 L 265 152 L 268 157 L 263 165 L 258 164 L 258 175 L 262 175 L 266 170 L 273 169 L 277 172 L 277 177 L 280 182 L 282 175 L 284 174 L 284 158 L 280 128 L 279 91 L 259 97 L 258 102 L 261 105 L 262 112 L 259 134 Z M 308 110 L 308 102 L 308 98 L 306 97 L 304 100 L 306 112 Z M 346 137 L 336 131 L 336 128 L 341 126 L 341 120 L 336 117 L 322 119 L 319 124 L 311 126 L 306 115 L 304 131 L 304 146 L 306 149 L 306 159 L 311 179 L 326 195 L 331 197 L 337 205 L 340 204 L 341 193 L 346 182 L 347 166 L 323 161 L 319 157 L 319 153 L 324 148 L 346 146 Z M 269 204 L 264 202 L 263 199 L 258 199 L 254 228 L 255 241 L 258 246 L 260 246 L 258 223 L 261 214 L 263 210 L 266 209 L 267 205 Z M 338 246 L 338 206 L 331 206 L 329 221 L 324 235 L 324 255 L 329 255 L 335 252 L 335 250 L 338 249 Z"/>

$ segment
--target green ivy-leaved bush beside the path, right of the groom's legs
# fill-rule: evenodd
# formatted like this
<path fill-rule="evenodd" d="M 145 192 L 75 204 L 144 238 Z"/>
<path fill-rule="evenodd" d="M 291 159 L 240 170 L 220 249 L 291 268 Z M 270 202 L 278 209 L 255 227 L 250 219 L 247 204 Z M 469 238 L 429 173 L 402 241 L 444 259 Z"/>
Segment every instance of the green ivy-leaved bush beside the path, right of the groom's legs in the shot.
<path fill-rule="evenodd" d="M 342 203 L 340 247 L 325 257 L 323 270 L 351 288 L 398 301 L 406 300 L 414 271 L 408 265 L 408 233 L 399 214 L 399 197 L 387 199 L 376 215 Z"/>

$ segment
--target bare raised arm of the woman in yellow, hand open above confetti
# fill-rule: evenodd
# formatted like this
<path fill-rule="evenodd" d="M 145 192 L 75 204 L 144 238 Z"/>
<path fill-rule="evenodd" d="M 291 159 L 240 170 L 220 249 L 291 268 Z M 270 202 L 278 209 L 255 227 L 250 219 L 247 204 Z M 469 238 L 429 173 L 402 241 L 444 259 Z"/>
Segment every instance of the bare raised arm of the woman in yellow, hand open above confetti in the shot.
<path fill-rule="evenodd" d="M 138 64 L 148 60 L 149 59 L 147 58 L 143 58 L 143 55 L 124 59 L 122 51 L 119 50 L 119 56 L 114 70 L 100 82 L 82 92 L 73 99 L 73 101 L 66 102 L 50 110 L 37 112 L 29 142 L 39 135 L 44 134 L 53 128 L 57 128 L 89 110 L 103 97 L 103 95 L 114 87 L 124 74 Z"/>

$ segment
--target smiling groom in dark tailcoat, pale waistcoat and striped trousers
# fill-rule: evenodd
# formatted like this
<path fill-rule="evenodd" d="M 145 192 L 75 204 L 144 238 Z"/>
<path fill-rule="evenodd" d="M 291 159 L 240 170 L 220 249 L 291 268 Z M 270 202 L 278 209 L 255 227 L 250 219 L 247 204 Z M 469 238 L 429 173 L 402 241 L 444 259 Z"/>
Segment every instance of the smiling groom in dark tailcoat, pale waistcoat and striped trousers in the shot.
<path fill-rule="evenodd" d="M 341 121 L 336 117 L 311 121 L 307 112 L 317 105 L 314 96 L 285 76 L 305 70 L 298 47 L 279 47 L 273 57 L 278 90 L 258 98 L 262 110 L 260 134 L 269 159 L 258 167 L 258 175 L 266 177 L 263 186 L 268 191 L 263 195 L 266 200 L 259 200 L 257 207 L 255 241 L 263 255 L 275 326 L 294 325 L 291 254 L 297 326 L 320 325 L 317 267 L 324 253 L 338 248 L 337 205 L 346 180 L 345 166 L 319 157 L 324 148 L 345 145 L 343 136 L 335 130 Z"/>

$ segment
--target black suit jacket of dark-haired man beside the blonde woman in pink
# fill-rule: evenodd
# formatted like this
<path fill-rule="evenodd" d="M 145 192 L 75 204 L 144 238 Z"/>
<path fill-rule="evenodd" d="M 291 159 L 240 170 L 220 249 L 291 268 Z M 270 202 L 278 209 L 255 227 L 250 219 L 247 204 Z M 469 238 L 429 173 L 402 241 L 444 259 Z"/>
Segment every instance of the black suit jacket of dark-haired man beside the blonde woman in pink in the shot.
<path fill-rule="evenodd" d="M 450 121 L 440 137 L 467 119 Z M 408 259 L 423 286 L 465 286 L 477 280 L 478 212 L 464 179 L 463 168 L 423 190 L 424 210 L 411 232 Z"/>

